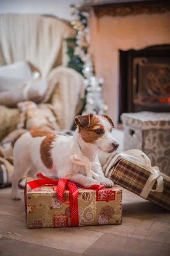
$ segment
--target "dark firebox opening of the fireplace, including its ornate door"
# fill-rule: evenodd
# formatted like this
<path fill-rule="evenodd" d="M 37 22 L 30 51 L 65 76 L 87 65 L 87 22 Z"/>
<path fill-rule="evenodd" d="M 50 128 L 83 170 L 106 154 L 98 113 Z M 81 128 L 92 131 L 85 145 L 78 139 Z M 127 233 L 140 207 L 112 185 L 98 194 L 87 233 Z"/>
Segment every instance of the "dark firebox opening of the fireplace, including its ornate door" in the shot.
<path fill-rule="evenodd" d="M 119 50 L 119 122 L 139 111 L 170 112 L 170 45 Z"/>

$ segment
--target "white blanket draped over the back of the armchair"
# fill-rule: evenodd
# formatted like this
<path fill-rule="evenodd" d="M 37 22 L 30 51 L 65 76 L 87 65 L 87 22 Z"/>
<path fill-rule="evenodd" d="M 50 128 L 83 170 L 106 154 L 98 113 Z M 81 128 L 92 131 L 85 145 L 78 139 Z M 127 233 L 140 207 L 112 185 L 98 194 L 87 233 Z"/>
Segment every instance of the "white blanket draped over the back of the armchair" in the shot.
<path fill-rule="evenodd" d="M 52 67 L 67 65 L 64 38 L 73 34 L 74 30 L 54 17 L 1 14 L 0 65 L 24 60 L 46 76 Z"/>

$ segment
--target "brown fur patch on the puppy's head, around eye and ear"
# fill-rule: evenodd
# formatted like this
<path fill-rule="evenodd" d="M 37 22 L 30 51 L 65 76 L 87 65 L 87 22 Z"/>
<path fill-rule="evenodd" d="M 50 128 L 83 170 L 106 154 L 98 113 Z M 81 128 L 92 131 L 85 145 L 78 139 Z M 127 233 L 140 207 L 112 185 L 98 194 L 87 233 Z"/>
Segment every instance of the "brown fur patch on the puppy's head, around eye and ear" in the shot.
<path fill-rule="evenodd" d="M 97 116 L 94 116 L 93 114 L 88 114 L 84 116 L 83 122 L 89 124 L 88 128 L 82 126 L 82 118 L 80 120 L 79 119 L 79 116 L 76 116 L 75 122 L 79 128 L 79 132 L 81 133 L 82 140 L 84 140 L 84 142 L 94 144 L 96 140 L 102 137 L 102 135 L 105 133 L 105 128 L 101 124 Z M 96 130 L 102 130 L 102 133 L 96 134 Z"/>

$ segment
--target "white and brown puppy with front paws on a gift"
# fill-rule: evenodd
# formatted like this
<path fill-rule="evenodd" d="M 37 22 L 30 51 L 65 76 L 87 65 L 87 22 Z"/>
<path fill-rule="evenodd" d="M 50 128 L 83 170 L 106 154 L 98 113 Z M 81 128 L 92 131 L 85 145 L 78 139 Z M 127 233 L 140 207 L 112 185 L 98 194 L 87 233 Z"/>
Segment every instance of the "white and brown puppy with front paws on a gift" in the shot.
<path fill-rule="evenodd" d="M 113 186 L 113 182 L 104 176 L 98 159 L 100 151 L 111 153 L 119 146 L 111 135 L 114 127 L 111 118 L 106 115 L 87 114 L 76 116 L 75 122 L 77 129 L 73 136 L 29 130 L 18 135 L 6 149 L 6 158 L 13 150 L 14 200 L 21 199 L 18 182 L 24 173 L 27 176 L 35 176 L 36 172 L 45 175 L 51 173 L 51 176 L 66 178 L 84 187 L 99 183 L 105 187 Z"/>

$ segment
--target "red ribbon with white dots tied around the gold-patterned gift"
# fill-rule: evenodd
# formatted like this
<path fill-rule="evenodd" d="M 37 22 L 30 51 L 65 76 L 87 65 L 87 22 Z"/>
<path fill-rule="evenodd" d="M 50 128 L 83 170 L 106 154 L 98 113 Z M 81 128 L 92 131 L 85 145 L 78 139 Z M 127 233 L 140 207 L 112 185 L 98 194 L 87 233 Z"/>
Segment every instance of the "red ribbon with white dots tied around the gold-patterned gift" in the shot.
<path fill-rule="evenodd" d="M 57 185 L 56 194 L 60 201 L 64 204 L 70 204 L 70 217 L 71 217 L 71 226 L 79 226 L 79 214 L 78 214 L 78 202 L 77 197 L 79 195 L 78 187 L 81 187 L 85 189 L 83 186 L 80 186 L 78 184 L 75 184 L 74 182 L 68 180 L 68 179 L 59 179 L 59 180 L 53 180 L 45 177 L 41 173 L 38 173 L 38 175 L 41 177 L 41 179 L 38 180 L 32 180 L 28 181 L 26 185 L 30 186 L 31 189 L 35 189 L 40 186 L 45 185 Z M 63 192 L 65 187 L 69 191 L 69 203 L 65 203 L 63 201 Z M 88 189 L 104 189 L 104 185 L 92 185 Z M 26 211 L 26 187 L 25 187 L 25 211 Z"/>

